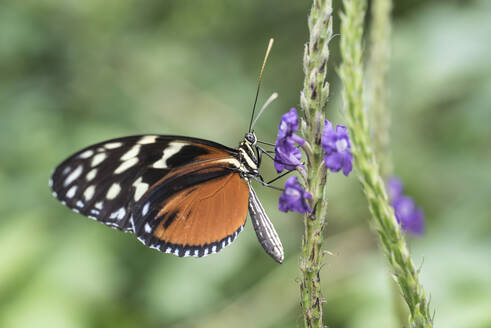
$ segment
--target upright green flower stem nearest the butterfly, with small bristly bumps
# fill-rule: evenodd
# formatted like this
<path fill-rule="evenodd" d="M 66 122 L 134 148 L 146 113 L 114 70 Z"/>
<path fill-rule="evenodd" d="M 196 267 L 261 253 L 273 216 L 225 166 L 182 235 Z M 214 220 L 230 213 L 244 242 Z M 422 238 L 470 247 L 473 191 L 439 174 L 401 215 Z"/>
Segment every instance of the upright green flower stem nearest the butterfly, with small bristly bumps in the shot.
<path fill-rule="evenodd" d="M 310 145 L 307 152 L 305 182 L 312 194 L 313 211 L 304 216 L 305 230 L 300 256 L 301 305 L 305 327 L 323 327 L 323 303 L 320 270 L 323 263 L 323 230 L 327 219 L 327 171 L 323 163 L 321 134 L 329 96 L 326 80 L 328 44 L 332 37 L 332 5 L 330 0 L 314 0 L 308 18 L 309 42 L 305 45 L 304 87 L 300 95 L 303 110 L 301 131 Z"/>

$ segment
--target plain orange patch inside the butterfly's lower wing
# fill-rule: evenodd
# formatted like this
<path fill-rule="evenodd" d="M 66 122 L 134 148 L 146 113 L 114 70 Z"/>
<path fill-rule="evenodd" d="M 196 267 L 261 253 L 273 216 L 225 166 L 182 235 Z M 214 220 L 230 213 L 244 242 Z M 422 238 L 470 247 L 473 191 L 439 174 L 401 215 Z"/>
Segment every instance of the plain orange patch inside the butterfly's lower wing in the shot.
<path fill-rule="evenodd" d="M 183 189 L 162 204 L 153 236 L 189 247 L 219 243 L 244 225 L 248 199 L 248 184 L 238 173 Z"/>

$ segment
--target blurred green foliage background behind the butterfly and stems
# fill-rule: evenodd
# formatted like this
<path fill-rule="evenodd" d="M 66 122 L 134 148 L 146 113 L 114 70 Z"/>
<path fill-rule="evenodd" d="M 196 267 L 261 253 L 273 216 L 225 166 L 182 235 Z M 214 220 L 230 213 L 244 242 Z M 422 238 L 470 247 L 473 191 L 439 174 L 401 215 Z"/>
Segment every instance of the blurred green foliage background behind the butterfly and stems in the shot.
<path fill-rule="evenodd" d="M 302 221 L 276 209 L 276 191 L 256 187 L 285 246 L 282 265 L 250 223 L 219 255 L 161 254 L 69 211 L 47 182 L 74 151 L 118 136 L 182 134 L 235 147 L 270 37 L 259 103 L 274 91 L 280 98 L 256 131 L 273 141 L 281 114 L 298 107 L 309 4 L 0 1 L 0 327 L 302 325 Z M 409 238 L 413 259 L 436 327 L 491 327 L 491 3 L 396 1 L 394 16 L 395 171 L 427 219 L 426 234 Z M 329 117 L 343 123 L 338 44 L 339 36 Z M 328 183 L 327 323 L 398 327 L 356 177 Z"/>

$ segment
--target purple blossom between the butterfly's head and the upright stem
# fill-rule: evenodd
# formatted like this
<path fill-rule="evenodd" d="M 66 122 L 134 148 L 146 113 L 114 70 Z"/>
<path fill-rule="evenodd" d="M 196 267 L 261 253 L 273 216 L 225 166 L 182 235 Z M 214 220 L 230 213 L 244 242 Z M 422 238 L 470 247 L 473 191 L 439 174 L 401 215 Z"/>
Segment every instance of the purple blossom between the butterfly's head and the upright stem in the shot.
<path fill-rule="evenodd" d="M 295 108 L 281 117 L 278 138 L 275 145 L 274 167 L 278 173 L 283 170 L 294 170 L 300 163 L 302 152 L 295 143 L 302 146 L 305 142 L 295 134 L 298 130 L 298 115 Z"/>

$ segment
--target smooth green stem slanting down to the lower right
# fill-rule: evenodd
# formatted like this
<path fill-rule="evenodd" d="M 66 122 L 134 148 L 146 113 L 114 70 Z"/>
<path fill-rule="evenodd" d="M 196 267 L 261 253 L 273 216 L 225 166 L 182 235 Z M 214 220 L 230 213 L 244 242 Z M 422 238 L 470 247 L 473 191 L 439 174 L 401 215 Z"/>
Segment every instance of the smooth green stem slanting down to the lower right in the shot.
<path fill-rule="evenodd" d="M 343 4 L 345 12 L 341 16 L 342 64 L 339 74 L 344 86 L 344 107 L 355 168 L 368 200 L 372 224 L 389 261 L 393 277 L 408 305 L 409 326 L 432 327 L 425 291 L 389 204 L 370 145 L 368 120 L 363 107 L 362 36 L 366 0 L 344 0 Z"/>

